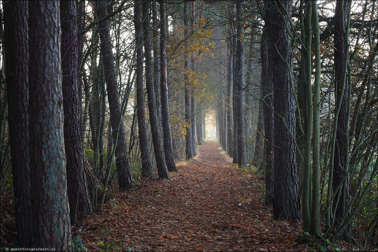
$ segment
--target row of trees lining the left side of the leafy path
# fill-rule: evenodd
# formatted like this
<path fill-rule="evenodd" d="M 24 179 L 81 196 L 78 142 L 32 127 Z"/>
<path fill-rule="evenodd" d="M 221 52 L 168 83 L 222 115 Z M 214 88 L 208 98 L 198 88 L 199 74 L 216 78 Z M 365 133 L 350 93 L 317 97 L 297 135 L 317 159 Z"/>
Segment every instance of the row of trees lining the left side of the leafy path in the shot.
<path fill-rule="evenodd" d="M 71 224 L 102 210 L 115 177 L 119 190 L 155 170 L 170 179 L 182 145 L 187 159 L 196 155 L 204 50 L 190 52 L 189 39 L 202 45 L 207 28 L 195 2 L 191 14 L 183 7 L 170 24 L 163 1 L 2 2 L 1 186 L 13 181 L 19 246 L 72 250 Z M 184 55 L 172 50 L 180 44 Z M 169 82 L 167 57 L 185 61 L 180 80 Z M 173 83 L 185 87 L 185 119 Z"/>

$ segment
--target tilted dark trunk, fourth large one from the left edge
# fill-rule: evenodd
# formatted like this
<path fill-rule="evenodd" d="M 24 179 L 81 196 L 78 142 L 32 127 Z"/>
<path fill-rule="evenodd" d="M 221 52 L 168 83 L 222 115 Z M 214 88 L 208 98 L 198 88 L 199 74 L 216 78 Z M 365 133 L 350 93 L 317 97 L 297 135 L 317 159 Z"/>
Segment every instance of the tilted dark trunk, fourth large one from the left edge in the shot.
<path fill-rule="evenodd" d="M 110 26 L 108 24 L 108 20 L 106 20 L 108 15 L 106 9 L 107 5 L 107 1 L 96 1 L 97 18 L 102 20 L 102 22 L 98 24 L 98 28 L 101 39 L 101 51 L 104 60 L 105 77 L 107 81 L 110 121 L 112 123 L 113 138 L 117 138 L 118 136 L 115 156 L 119 190 L 124 190 L 132 187 L 133 179 L 129 152 L 127 152 L 128 149 L 125 128 L 121 115 L 121 105 L 119 104 L 119 91 L 116 83 L 116 71 L 112 52 L 113 46 L 112 39 L 110 37 Z"/>

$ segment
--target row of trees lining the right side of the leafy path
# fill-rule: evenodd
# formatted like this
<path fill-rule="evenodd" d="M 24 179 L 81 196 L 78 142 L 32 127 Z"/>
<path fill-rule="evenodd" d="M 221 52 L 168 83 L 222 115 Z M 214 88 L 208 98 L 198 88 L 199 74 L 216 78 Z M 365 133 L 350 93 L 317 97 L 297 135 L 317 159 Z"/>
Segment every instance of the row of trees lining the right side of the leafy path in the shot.
<path fill-rule="evenodd" d="M 325 231 L 347 241 L 354 225 L 366 244 L 377 235 L 376 217 L 366 212 L 376 213 L 377 193 L 375 8 L 341 0 L 229 3 L 228 74 L 217 105 L 222 147 L 239 167 L 264 173 L 275 219 L 303 220 L 319 235 L 324 218 Z"/>

